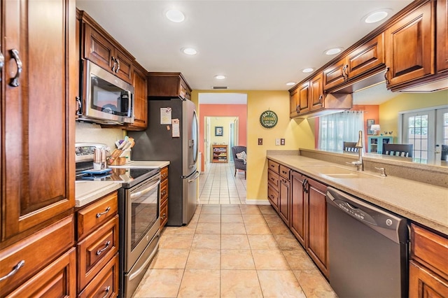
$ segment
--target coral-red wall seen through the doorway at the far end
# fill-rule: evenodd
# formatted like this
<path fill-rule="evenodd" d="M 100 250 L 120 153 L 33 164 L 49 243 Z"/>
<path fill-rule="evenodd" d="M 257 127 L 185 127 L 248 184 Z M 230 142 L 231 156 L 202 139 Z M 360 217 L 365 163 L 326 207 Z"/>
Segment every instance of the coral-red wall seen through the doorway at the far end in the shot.
<path fill-rule="evenodd" d="M 238 117 L 238 138 L 240 146 L 246 146 L 247 139 L 247 105 L 246 104 L 200 104 L 199 105 L 199 150 L 202 152 L 204 169 L 204 122 L 205 117 Z"/>

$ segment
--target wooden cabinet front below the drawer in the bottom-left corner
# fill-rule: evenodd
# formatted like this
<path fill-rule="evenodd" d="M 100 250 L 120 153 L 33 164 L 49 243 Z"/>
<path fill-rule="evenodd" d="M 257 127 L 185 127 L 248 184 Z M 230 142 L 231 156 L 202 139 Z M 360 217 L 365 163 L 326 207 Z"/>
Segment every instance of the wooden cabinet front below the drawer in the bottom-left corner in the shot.
<path fill-rule="evenodd" d="M 11 292 L 8 297 L 75 297 L 74 276 L 76 276 L 76 250 L 71 248 Z"/>

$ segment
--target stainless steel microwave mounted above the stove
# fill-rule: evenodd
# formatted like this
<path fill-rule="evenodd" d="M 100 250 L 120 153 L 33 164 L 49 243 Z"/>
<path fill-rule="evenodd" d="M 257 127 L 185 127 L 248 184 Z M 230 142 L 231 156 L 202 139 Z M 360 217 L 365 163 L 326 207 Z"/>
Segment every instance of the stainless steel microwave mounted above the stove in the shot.
<path fill-rule="evenodd" d="M 82 98 L 77 99 L 79 121 L 107 125 L 134 122 L 134 87 L 85 60 L 81 71 Z"/>

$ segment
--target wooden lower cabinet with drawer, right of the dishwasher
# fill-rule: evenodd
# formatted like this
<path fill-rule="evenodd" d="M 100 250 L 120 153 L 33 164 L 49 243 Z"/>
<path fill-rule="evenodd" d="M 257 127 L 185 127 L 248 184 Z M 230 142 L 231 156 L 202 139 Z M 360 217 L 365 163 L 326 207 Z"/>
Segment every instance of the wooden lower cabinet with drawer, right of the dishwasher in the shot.
<path fill-rule="evenodd" d="M 448 297 L 448 236 L 411 225 L 409 297 Z"/>

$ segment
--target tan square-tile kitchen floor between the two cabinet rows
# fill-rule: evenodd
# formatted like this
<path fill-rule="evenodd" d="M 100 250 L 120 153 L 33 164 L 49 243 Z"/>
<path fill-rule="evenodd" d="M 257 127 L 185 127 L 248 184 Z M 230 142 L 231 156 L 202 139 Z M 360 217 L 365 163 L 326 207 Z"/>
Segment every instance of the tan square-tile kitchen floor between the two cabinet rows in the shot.
<path fill-rule="evenodd" d="M 162 230 L 140 297 L 336 295 L 272 206 L 201 204 Z"/>

